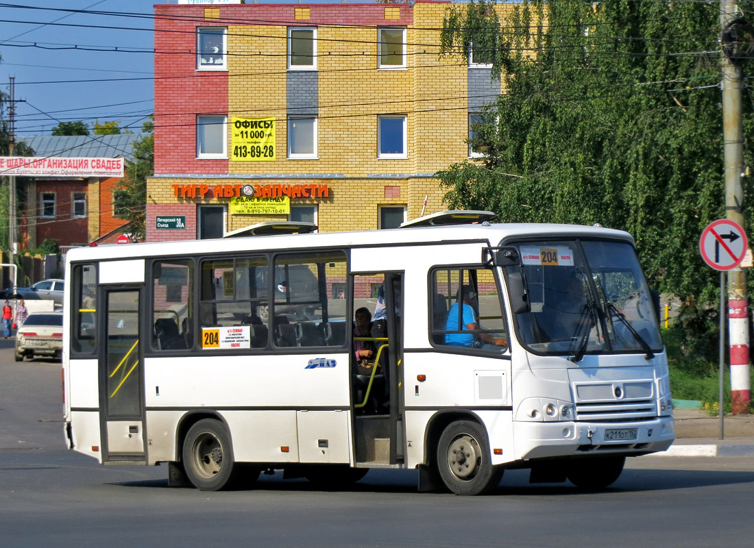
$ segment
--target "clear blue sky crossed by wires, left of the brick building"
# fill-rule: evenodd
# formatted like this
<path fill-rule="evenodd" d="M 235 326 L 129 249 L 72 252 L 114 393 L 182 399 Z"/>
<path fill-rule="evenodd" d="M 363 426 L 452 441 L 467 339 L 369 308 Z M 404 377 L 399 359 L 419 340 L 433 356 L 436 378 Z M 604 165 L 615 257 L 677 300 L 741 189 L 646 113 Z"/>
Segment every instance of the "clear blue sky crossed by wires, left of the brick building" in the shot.
<path fill-rule="evenodd" d="M 17 138 L 49 135 L 60 121 L 91 127 L 96 119 L 139 133 L 154 111 L 155 3 L 167 2 L 0 2 L 0 90 L 10 94 L 15 76 L 15 98 L 25 100 L 17 103 Z"/>

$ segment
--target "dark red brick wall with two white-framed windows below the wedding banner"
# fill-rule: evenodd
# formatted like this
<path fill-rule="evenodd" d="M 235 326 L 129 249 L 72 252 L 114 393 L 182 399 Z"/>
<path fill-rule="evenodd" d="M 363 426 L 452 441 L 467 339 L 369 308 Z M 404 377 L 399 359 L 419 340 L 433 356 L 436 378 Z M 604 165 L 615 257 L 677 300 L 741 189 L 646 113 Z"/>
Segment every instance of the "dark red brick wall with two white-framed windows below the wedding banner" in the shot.
<path fill-rule="evenodd" d="M 87 217 L 73 218 L 73 193 L 86 194 L 87 186 L 86 181 L 79 180 L 37 181 L 37 210 L 26 212 L 27 215 L 37 217 L 37 245 L 45 238 L 52 238 L 60 246 L 88 243 Z M 42 194 L 45 192 L 55 193 L 54 219 L 41 217 Z"/>

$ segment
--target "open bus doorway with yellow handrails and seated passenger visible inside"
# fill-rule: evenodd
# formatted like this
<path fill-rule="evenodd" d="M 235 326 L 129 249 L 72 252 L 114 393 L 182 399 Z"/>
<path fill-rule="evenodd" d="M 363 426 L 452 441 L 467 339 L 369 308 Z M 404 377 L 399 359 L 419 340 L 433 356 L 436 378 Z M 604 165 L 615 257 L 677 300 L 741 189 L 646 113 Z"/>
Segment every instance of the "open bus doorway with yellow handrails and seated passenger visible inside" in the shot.
<path fill-rule="evenodd" d="M 353 308 L 372 313 L 372 359 L 358 363 L 351 352 L 354 455 L 358 465 L 403 463 L 403 273 L 352 275 Z M 384 315 L 383 315 L 384 314 Z"/>

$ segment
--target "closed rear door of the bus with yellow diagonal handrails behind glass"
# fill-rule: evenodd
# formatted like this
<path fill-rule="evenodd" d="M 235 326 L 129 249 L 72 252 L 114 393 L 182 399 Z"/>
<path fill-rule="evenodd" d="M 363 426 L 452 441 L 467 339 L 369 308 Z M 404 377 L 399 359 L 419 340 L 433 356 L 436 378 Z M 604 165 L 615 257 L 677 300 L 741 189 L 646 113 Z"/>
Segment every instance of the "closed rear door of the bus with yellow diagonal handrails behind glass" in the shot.
<path fill-rule="evenodd" d="M 143 359 L 139 308 L 141 290 L 100 289 L 106 305 L 100 324 L 100 409 L 103 462 L 144 462 Z"/>

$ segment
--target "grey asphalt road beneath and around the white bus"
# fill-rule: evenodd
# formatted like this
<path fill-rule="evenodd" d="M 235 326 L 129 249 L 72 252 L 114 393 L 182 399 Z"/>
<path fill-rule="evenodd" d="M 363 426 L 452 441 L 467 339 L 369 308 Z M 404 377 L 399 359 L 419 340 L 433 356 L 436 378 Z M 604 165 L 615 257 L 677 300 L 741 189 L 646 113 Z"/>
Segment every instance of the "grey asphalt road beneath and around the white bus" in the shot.
<path fill-rule="evenodd" d="M 612 488 L 420 494 L 412 470 L 348 491 L 262 476 L 251 491 L 167 487 L 167 467 L 103 467 L 65 449 L 60 364 L 0 340 L 0 546 L 749 546 L 754 459 L 630 459 Z"/>

